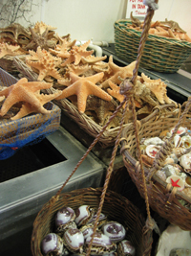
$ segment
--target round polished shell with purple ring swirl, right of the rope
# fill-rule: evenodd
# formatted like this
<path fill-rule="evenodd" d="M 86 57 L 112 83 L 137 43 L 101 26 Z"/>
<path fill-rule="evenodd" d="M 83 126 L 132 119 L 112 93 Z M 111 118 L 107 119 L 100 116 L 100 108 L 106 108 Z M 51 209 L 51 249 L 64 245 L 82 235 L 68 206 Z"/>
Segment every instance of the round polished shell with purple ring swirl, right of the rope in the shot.
<path fill-rule="evenodd" d="M 108 236 L 113 243 L 117 243 L 125 238 L 126 230 L 117 221 L 109 221 L 102 226 L 102 232 Z"/>

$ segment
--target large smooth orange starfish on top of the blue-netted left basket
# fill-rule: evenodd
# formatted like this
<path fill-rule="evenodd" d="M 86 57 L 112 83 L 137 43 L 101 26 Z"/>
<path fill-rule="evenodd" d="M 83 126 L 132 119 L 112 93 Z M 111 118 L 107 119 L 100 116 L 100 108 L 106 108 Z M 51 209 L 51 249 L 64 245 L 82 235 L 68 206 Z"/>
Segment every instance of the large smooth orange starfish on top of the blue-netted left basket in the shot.
<path fill-rule="evenodd" d="M 19 102 L 26 102 L 36 107 L 40 112 L 47 111 L 39 99 L 36 97 L 34 92 L 41 89 L 48 89 L 52 87 L 52 83 L 48 82 L 39 82 L 39 81 L 28 81 L 26 78 L 23 78 L 16 83 L 12 84 L 8 88 L 0 91 L 0 96 L 5 96 L 6 100 L 4 101 L 0 115 L 4 116 L 12 105 Z"/>

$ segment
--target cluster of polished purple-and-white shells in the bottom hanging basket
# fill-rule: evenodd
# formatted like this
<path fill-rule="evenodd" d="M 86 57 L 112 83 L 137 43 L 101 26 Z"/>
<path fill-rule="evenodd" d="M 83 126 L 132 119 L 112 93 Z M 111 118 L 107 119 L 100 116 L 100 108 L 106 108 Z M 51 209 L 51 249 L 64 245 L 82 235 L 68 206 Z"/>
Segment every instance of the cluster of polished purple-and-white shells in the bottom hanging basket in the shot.
<path fill-rule="evenodd" d="M 41 242 L 43 255 L 86 255 L 94 233 L 96 209 L 81 205 L 75 211 L 62 207 L 55 214 L 55 228 Z M 117 221 L 100 214 L 90 255 L 134 256 L 135 246 L 126 240 L 126 230 Z"/>

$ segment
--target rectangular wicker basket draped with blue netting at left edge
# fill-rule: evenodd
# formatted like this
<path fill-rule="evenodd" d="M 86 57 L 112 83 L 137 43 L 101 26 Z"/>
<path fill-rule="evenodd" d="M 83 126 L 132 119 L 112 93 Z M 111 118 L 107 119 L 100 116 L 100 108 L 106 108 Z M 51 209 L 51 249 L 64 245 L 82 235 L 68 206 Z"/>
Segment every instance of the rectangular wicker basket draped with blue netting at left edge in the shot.
<path fill-rule="evenodd" d="M 17 80 L 0 69 L 0 84 L 11 86 Z M 10 157 L 14 151 L 23 146 L 40 141 L 39 138 L 52 133 L 60 125 L 61 110 L 52 102 L 44 105 L 48 114 L 31 114 L 29 116 L 0 124 L 0 159 Z"/>

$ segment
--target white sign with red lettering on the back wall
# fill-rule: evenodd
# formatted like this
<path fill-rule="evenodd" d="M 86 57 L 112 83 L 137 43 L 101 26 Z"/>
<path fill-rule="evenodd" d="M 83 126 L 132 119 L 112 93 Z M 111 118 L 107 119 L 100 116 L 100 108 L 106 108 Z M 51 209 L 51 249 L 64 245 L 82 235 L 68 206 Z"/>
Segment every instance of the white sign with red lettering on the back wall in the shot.
<path fill-rule="evenodd" d="M 134 17 L 144 17 L 147 7 L 143 5 L 143 0 L 128 0 L 126 18 L 130 18 L 131 12 Z"/>

